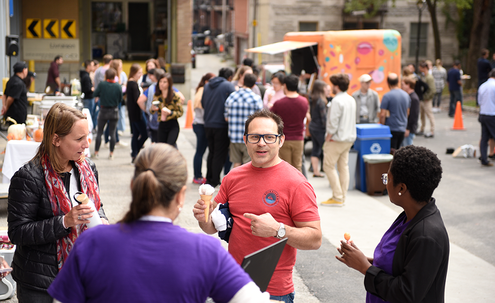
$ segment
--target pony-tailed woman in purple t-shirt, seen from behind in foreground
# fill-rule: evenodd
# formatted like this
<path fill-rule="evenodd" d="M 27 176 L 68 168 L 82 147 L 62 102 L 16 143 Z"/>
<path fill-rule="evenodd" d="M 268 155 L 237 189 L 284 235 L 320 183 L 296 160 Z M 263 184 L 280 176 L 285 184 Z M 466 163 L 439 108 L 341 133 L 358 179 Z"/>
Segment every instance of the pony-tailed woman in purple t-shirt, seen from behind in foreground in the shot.
<path fill-rule="evenodd" d="M 122 221 L 86 230 L 48 289 L 54 302 L 269 302 L 215 238 L 173 224 L 187 163 L 172 145 L 140 151 Z"/>

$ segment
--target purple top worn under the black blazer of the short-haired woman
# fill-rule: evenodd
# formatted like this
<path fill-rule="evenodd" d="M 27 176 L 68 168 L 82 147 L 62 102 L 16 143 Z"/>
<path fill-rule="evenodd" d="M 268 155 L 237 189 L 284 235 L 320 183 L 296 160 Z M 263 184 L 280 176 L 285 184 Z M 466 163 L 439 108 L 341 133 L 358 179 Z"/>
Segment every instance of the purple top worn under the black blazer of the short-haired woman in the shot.
<path fill-rule="evenodd" d="M 409 222 L 404 222 L 406 220 L 406 215 L 400 217 L 392 226 L 385 232 L 383 237 L 375 248 L 373 254 L 373 266 L 378 267 L 383 270 L 387 275 L 392 275 L 392 262 L 393 255 L 395 254 L 395 248 L 397 248 L 397 243 L 401 238 L 402 233 L 409 225 Z M 366 303 L 383 303 L 384 301 L 379 297 L 366 293 Z"/>

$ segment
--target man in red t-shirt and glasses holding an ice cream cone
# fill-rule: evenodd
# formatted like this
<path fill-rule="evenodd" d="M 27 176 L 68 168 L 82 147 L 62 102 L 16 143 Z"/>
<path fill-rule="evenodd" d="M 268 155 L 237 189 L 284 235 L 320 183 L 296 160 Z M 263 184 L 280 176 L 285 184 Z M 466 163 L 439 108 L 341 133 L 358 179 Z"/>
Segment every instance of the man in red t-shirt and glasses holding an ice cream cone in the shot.
<path fill-rule="evenodd" d="M 198 200 L 193 213 L 201 229 L 217 232 L 211 213 L 229 203 L 233 218 L 229 252 L 240 264 L 244 256 L 288 238 L 267 291 L 271 298 L 291 302 L 294 294 L 292 269 L 297 249 L 318 249 L 321 228 L 316 194 L 298 170 L 278 157 L 284 144 L 283 122 L 267 109 L 249 116 L 244 143 L 252 161 L 226 175 L 205 221 L 205 203 Z"/>

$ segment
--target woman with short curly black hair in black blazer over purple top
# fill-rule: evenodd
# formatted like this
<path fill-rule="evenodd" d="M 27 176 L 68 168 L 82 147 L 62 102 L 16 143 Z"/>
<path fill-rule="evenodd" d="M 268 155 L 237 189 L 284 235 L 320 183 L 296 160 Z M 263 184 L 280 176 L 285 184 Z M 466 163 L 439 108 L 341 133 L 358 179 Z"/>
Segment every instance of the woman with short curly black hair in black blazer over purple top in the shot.
<path fill-rule="evenodd" d="M 405 146 L 383 174 L 390 201 L 404 212 L 385 232 L 373 258 L 341 241 L 337 260 L 365 275 L 367 303 L 444 301 L 449 263 L 449 236 L 435 199 L 442 174 L 431 150 Z"/>

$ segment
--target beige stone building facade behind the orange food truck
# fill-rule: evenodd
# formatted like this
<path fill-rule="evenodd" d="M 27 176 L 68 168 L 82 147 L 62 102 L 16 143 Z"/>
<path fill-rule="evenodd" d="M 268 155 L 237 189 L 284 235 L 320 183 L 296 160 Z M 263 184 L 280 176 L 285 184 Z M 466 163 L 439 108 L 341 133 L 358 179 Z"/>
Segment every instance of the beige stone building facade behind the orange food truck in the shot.
<path fill-rule="evenodd" d="M 364 18 L 344 12 L 344 0 L 251 0 L 250 2 L 250 36 L 249 47 L 256 47 L 283 40 L 287 32 L 294 31 L 329 31 L 344 29 L 395 29 L 402 35 L 402 64 L 414 63 L 418 37 L 419 10 L 416 1 L 398 0 L 395 5 L 389 1 L 378 10 L 372 18 Z M 457 18 L 455 6 L 447 8 L 450 16 Z M 239 14 L 240 12 L 236 12 Z M 450 65 L 458 55 L 458 40 L 454 22 L 437 7 L 438 28 L 441 39 L 441 56 L 445 65 Z M 253 16 L 256 16 L 256 22 Z M 256 24 L 254 26 L 253 24 Z M 259 37 L 261 35 L 261 37 Z M 261 41 L 261 43 L 259 43 Z M 240 56 L 251 57 L 258 62 L 258 56 L 240 50 Z M 435 57 L 433 27 L 428 9 L 422 11 L 420 26 L 419 60 L 432 60 Z M 262 62 L 282 62 L 282 55 L 262 55 Z"/>

